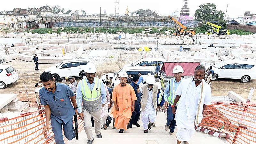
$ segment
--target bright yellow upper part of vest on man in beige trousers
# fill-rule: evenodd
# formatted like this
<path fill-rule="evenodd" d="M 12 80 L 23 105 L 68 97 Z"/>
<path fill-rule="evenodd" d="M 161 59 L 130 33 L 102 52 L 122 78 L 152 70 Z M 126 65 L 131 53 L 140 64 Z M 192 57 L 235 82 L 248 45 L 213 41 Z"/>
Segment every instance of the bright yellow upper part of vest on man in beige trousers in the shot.
<path fill-rule="evenodd" d="M 86 101 L 95 101 L 100 98 L 100 80 L 96 77 L 94 79 L 95 83 L 92 91 L 87 85 L 86 80 L 83 79 L 82 81 L 81 91 L 83 94 L 83 99 Z"/>

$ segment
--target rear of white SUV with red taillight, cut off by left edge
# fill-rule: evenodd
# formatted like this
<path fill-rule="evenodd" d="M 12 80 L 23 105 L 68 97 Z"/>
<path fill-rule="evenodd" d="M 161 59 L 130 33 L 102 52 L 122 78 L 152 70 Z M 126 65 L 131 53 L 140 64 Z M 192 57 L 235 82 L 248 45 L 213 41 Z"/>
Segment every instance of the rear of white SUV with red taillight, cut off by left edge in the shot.
<path fill-rule="evenodd" d="M 19 78 L 18 73 L 11 65 L 0 64 L 0 89 L 4 89 L 7 84 L 12 84 Z"/>

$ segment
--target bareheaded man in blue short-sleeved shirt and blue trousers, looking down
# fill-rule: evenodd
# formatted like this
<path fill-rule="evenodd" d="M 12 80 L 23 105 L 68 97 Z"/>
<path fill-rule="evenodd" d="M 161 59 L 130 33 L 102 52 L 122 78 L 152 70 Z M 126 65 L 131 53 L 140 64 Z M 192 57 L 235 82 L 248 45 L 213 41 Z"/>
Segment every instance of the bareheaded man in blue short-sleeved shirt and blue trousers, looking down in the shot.
<path fill-rule="evenodd" d="M 44 87 L 39 90 L 39 96 L 41 104 L 44 105 L 46 116 L 46 125 L 43 128 L 43 133 L 47 135 L 51 119 L 52 132 L 54 133 L 56 144 L 64 144 L 62 126 L 64 135 L 68 140 L 76 137 L 75 129 L 73 128 L 73 116 L 75 112 L 77 114 L 75 94 L 68 85 L 55 83 L 52 74 L 49 72 L 43 72 L 40 75 L 40 79 Z"/>

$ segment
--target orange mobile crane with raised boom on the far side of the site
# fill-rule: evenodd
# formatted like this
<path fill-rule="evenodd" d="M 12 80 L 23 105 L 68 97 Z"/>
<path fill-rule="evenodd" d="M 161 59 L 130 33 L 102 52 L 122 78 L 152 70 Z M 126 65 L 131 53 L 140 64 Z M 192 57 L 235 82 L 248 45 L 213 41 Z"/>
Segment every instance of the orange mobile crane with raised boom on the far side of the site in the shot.
<path fill-rule="evenodd" d="M 178 26 L 178 31 L 174 32 L 173 35 L 174 36 L 180 36 L 180 35 L 188 35 L 188 36 L 193 36 L 195 35 L 196 31 L 194 29 L 187 29 L 186 26 L 184 26 L 183 24 L 181 24 L 178 20 L 175 20 L 173 17 L 168 16 L 171 20 L 173 20 L 175 23 L 177 23 Z M 186 31 L 184 31 L 186 30 Z"/>

